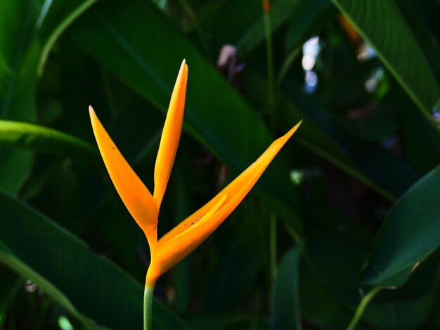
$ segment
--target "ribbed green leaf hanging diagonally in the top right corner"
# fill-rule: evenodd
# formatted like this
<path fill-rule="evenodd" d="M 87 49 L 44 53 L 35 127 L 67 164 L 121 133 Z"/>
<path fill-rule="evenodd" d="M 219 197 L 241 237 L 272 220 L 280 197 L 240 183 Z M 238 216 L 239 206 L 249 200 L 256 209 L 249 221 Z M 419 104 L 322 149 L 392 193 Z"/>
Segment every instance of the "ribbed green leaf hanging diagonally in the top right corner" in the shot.
<path fill-rule="evenodd" d="M 440 89 L 425 54 L 392 0 L 332 0 L 368 44 L 420 111 L 440 132 L 432 107 Z"/>

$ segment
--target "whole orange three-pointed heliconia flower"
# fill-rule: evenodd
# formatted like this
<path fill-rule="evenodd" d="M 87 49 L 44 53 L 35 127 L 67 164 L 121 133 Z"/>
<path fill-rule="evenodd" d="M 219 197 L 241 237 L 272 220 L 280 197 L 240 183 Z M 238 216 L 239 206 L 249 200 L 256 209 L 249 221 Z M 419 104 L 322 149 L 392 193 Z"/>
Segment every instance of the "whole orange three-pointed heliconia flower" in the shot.
<path fill-rule="evenodd" d="M 145 233 L 150 246 L 151 262 L 145 279 L 145 288 L 153 288 L 160 275 L 188 256 L 211 235 L 216 227 L 231 214 L 252 189 L 273 157 L 297 130 L 301 122 L 284 136 L 275 140 L 240 176 L 221 190 L 213 199 L 157 241 L 157 219 L 160 204 L 167 188 L 181 134 L 185 105 L 188 66 L 183 60 L 169 103 L 159 151 L 157 152 L 154 192 L 150 193 L 136 176 L 113 143 L 92 107 L 89 107 L 96 142 L 119 196 Z"/>

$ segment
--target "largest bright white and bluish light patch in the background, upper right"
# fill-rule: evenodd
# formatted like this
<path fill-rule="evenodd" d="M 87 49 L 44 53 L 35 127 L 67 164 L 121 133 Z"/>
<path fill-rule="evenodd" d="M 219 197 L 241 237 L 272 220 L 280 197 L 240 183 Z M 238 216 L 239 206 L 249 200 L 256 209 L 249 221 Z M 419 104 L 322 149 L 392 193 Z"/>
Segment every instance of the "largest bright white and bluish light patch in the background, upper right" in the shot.
<path fill-rule="evenodd" d="M 318 86 L 318 75 L 313 71 L 321 46 L 319 37 L 311 37 L 302 45 L 302 68 L 304 69 L 304 91 L 313 93 Z"/>

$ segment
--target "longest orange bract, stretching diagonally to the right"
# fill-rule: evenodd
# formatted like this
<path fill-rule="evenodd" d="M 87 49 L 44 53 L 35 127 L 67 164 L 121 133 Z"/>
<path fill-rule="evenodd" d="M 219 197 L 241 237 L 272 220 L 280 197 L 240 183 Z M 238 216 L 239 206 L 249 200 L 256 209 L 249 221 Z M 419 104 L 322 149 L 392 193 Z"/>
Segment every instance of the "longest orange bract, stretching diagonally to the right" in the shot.
<path fill-rule="evenodd" d="M 245 198 L 254 184 L 257 183 L 273 157 L 295 133 L 300 124 L 301 121 L 285 136 L 275 140 L 257 161 L 254 161 L 240 176 L 235 178 L 224 190 L 221 190 L 216 197 L 160 239 L 155 260 L 152 262 L 152 278 L 153 273 L 160 276 L 188 256 L 191 251 L 216 230 L 216 227 L 219 227 Z"/>

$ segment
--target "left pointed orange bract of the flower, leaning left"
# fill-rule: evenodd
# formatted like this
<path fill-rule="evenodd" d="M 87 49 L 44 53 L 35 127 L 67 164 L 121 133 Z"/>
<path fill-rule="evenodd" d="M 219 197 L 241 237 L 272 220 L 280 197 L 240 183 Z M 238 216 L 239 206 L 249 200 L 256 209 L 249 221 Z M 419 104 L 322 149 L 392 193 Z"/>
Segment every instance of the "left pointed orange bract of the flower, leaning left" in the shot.
<path fill-rule="evenodd" d="M 89 113 L 93 133 L 110 178 L 131 216 L 145 232 L 150 249 L 154 250 L 157 245 L 157 208 L 153 196 L 108 136 L 92 107 L 89 107 Z"/>

